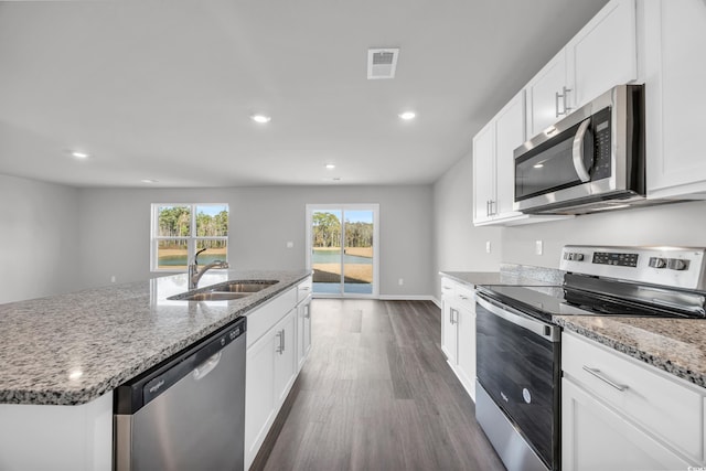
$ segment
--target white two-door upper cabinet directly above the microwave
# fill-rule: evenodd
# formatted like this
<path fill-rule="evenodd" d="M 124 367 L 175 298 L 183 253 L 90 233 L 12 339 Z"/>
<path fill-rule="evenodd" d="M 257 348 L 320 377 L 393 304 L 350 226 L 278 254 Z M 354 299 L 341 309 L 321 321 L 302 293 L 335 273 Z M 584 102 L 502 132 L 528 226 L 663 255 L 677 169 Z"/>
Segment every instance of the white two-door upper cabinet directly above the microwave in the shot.
<path fill-rule="evenodd" d="M 527 138 L 638 79 L 635 0 L 612 0 L 530 81 Z"/>

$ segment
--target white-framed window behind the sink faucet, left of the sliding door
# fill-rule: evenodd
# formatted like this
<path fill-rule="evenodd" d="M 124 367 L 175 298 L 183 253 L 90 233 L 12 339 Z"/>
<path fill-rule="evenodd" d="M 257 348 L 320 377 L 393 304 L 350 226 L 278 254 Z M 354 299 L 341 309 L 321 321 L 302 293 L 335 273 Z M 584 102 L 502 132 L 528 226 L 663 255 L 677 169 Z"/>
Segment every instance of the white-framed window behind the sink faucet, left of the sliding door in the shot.
<path fill-rule="evenodd" d="M 196 250 L 199 264 L 228 260 L 227 204 L 152 204 L 152 271 L 183 271 Z"/>

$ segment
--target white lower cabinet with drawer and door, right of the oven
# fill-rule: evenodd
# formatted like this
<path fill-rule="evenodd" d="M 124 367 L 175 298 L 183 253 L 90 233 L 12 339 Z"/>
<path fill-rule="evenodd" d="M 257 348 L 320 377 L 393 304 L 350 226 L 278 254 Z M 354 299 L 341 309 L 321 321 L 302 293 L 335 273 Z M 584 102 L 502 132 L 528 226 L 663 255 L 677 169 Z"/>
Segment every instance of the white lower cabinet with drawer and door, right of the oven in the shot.
<path fill-rule="evenodd" d="M 706 389 L 561 335 L 561 469 L 703 467 Z"/>

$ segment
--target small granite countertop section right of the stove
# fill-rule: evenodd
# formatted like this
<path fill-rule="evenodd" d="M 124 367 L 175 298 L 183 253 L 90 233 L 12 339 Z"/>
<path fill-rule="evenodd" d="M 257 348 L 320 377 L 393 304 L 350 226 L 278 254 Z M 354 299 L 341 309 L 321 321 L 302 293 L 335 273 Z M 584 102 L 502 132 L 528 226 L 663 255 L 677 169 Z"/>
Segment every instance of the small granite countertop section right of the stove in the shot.
<path fill-rule="evenodd" d="M 706 320 L 555 315 L 555 323 L 706 387 Z"/>

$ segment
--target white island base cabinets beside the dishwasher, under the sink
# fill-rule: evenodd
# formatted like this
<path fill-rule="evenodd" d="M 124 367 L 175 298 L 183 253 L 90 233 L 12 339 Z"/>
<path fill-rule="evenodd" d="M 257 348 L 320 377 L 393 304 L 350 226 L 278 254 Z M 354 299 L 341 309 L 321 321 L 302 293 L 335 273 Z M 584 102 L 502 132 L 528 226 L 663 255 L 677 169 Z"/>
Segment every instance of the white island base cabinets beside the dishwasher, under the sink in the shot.
<path fill-rule="evenodd" d="M 245 469 L 257 456 L 309 353 L 311 295 L 302 289 L 307 283 L 311 286 L 311 278 L 248 314 Z"/>

